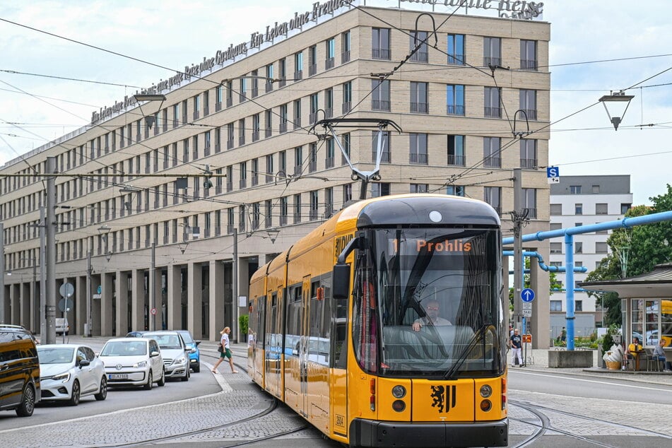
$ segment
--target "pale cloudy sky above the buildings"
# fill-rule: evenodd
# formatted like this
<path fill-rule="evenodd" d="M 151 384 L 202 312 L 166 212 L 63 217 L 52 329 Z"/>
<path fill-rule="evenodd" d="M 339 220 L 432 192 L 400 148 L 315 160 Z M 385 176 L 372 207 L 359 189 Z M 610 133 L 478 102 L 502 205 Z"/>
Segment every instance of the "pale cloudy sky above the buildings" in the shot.
<path fill-rule="evenodd" d="M 0 1 L 0 164 L 314 1 Z M 560 176 L 630 175 L 636 205 L 666 192 L 671 12 L 670 0 L 543 1 L 543 20 L 551 24 L 549 165 Z M 615 131 L 598 100 L 620 90 L 635 98 Z"/>

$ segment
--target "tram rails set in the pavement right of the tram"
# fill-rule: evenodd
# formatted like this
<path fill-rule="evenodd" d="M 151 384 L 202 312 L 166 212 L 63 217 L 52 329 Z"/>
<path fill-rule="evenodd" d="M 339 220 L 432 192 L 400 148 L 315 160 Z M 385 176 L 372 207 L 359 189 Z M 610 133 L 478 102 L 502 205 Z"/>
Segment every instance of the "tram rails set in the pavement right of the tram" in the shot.
<path fill-rule="evenodd" d="M 545 412 L 548 413 L 555 413 L 555 414 L 560 414 L 560 415 L 565 415 L 567 417 L 572 417 L 572 418 L 578 418 L 581 420 L 586 420 L 588 422 L 594 422 L 596 424 L 600 425 L 608 425 L 613 428 L 619 428 L 619 429 L 625 429 L 625 430 L 634 430 L 637 432 L 640 432 L 641 435 L 647 435 L 647 436 L 652 436 L 652 437 L 662 437 L 667 440 L 672 440 L 672 436 L 661 433 L 661 432 L 656 432 L 656 431 L 651 431 L 647 430 L 644 428 L 637 428 L 632 425 L 623 425 L 622 423 L 615 423 L 611 422 L 608 420 L 603 420 L 600 418 L 594 418 L 594 417 L 587 417 L 586 415 L 578 415 L 577 413 L 571 413 L 568 411 L 560 411 L 555 408 L 549 408 L 547 406 L 539 406 L 536 404 L 532 403 L 522 403 L 520 401 L 509 401 L 509 404 L 512 406 L 517 406 L 519 408 L 524 409 L 525 411 L 528 411 L 532 415 L 534 415 L 539 423 L 532 423 L 529 420 L 526 419 L 521 419 L 521 418 L 510 418 L 509 420 L 514 420 L 518 421 L 520 423 L 524 423 L 526 425 L 531 425 L 536 428 L 534 433 L 530 435 L 529 437 L 526 437 L 525 440 L 521 440 L 521 442 L 518 442 L 517 444 L 511 445 L 512 448 L 523 448 L 523 447 L 529 447 L 534 442 L 537 442 L 543 435 L 546 435 L 547 432 L 554 432 L 559 435 L 564 435 L 565 437 L 570 437 L 575 440 L 581 440 L 582 442 L 586 442 L 589 444 L 594 444 L 598 447 L 606 447 L 606 448 L 619 448 L 621 445 L 613 445 L 613 444 L 608 444 L 604 442 L 600 442 L 599 440 L 594 440 L 589 437 L 583 436 L 583 435 L 577 435 L 573 434 L 572 432 L 569 432 L 567 430 L 562 430 L 560 428 L 555 428 L 551 423 L 550 423 L 550 418 L 548 415 L 546 415 Z"/>

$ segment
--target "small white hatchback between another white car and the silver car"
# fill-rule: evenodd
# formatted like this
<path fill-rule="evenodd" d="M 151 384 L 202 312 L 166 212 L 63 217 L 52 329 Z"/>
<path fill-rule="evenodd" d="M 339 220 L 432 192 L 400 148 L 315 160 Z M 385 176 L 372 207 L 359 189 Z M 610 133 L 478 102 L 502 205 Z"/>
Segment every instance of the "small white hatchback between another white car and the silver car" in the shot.
<path fill-rule="evenodd" d="M 163 357 L 158 343 L 147 338 L 114 338 L 105 343 L 98 358 L 105 364 L 108 386 L 165 385 Z"/>

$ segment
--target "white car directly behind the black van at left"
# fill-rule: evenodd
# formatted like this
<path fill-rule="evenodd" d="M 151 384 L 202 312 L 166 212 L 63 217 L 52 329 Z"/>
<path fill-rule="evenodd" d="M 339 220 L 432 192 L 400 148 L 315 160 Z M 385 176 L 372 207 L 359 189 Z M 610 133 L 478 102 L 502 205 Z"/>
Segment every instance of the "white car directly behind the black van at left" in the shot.
<path fill-rule="evenodd" d="M 81 397 L 107 398 L 105 365 L 88 346 L 47 344 L 37 346 L 40 391 L 43 401 L 64 400 L 77 406 Z"/>

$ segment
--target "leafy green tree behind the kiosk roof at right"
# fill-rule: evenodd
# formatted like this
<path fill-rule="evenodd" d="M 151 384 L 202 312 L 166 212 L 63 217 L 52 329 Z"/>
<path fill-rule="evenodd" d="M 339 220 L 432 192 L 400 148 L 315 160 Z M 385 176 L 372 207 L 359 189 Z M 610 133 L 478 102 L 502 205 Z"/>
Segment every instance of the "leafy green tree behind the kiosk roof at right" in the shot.
<path fill-rule="evenodd" d="M 635 206 L 625 213 L 626 218 L 644 216 L 672 210 L 672 186 L 667 185 L 666 194 L 649 198 L 653 206 Z M 633 228 L 613 230 L 607 240 L 611 253 L 604 257 L 598 267 L 586 276 L 586 281 L 615 280 L 638 276 L 652 271 L 656 264 L 672 260 L 672 224 L 669 221 Z M 620 298 L 616 293 L 590 293 L 608 308 L 603 326 L 620 325 Z"/>

